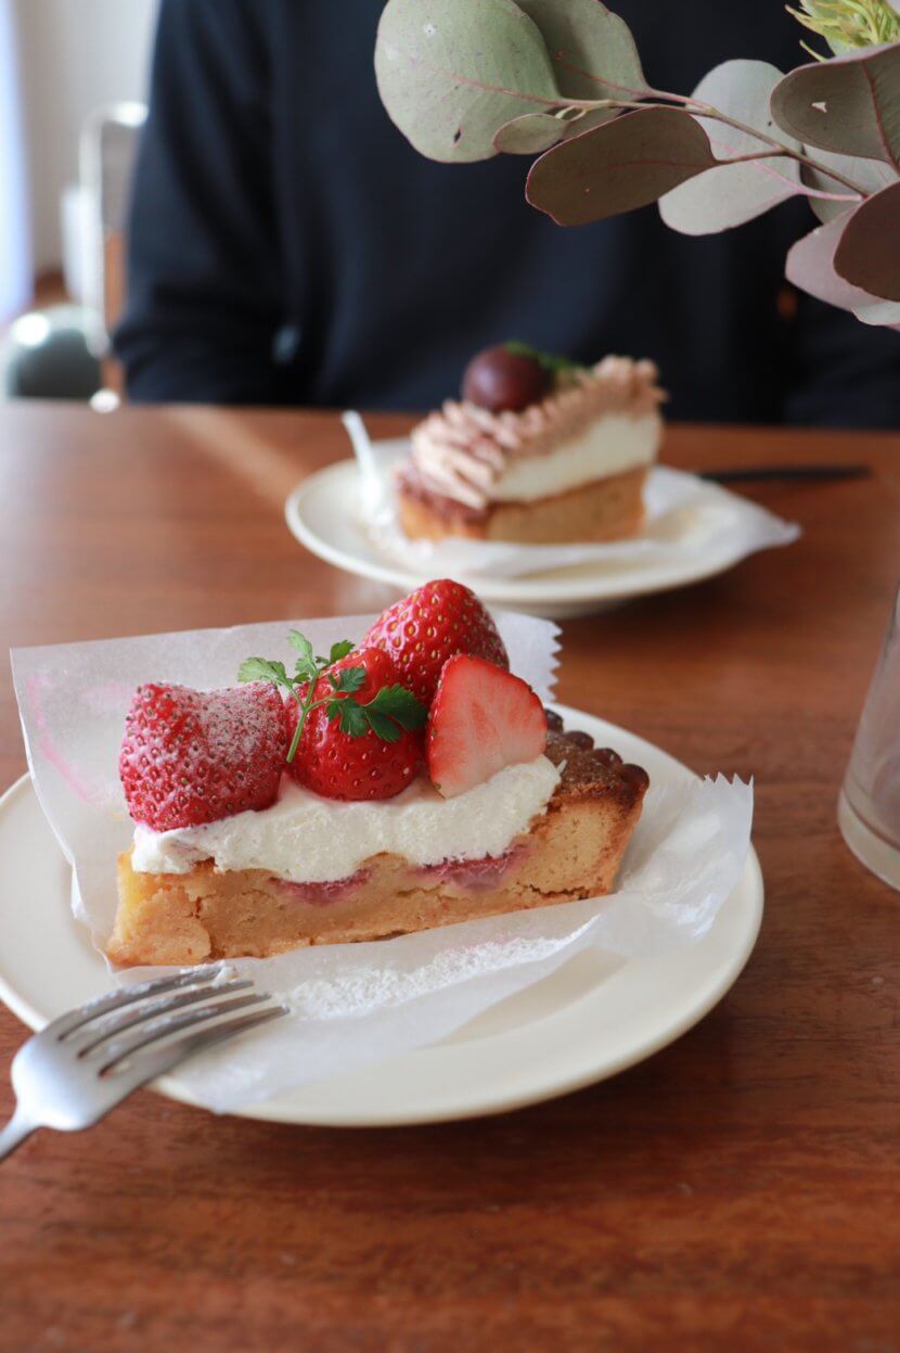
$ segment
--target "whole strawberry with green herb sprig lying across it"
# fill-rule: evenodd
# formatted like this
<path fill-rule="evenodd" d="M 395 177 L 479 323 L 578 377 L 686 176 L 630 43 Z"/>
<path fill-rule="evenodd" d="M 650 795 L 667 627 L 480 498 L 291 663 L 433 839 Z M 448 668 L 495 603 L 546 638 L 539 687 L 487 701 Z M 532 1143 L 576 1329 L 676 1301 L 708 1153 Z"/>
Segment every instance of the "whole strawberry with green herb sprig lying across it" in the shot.
<path fill-rule="evenodd" d="M 300 702 L 288 704 L 292 737 L 308 695 L 300 687 Z M 318 678 L 288 771 L 324 798 L 393 798 L 422 766 L 423 723 L 388 655 L 355 649 Z"/>

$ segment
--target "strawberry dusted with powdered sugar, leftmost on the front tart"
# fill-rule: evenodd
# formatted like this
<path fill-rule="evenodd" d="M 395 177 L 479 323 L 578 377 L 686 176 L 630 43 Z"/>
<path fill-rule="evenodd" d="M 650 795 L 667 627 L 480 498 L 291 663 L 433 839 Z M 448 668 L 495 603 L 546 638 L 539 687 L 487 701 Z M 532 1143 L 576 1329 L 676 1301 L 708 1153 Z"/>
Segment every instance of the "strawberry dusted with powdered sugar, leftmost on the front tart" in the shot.
<path fill-rule="evenodd" d="M 269 808 L 286 750 L 284 701 L 268 682 L 138 686 L 119 752 L 128 812 L 162 832 Z"/>

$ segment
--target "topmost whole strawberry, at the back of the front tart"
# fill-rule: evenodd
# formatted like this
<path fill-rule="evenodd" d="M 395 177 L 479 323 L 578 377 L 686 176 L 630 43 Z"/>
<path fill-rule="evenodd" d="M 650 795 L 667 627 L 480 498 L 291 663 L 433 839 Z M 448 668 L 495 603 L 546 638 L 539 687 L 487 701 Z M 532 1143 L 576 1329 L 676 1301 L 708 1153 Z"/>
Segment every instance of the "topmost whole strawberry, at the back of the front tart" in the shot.
<path fill-rule="evenodd" d="M 509 670 L 497 626 L 476 594 L 449 578 L 426 583 L 389 606 L 362 640 L 391 653 L 399 679 L 430 705 L 447 658 L 469 653 Z"/>

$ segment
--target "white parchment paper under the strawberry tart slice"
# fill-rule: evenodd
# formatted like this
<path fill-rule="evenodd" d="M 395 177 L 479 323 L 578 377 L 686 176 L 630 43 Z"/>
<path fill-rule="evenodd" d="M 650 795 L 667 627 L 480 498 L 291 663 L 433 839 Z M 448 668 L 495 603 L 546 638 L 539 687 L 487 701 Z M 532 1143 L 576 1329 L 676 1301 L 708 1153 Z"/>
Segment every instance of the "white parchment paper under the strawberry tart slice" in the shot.
<path fill-rule="evenodd" d="M 230 685 L 251 653 L 288 658 L 291 626 L 322 651 L 338 639 L 359 639 L 372 618 L 291 620 L 14 652 L 35 789 L 74 869 L 76 915 L 99 948 L 115 916 L 116 856 L 131 838 L 118 750 L 134 687 L 143 681 Z M 496 618 L 512 668 L 549 700 L 557 628 L 526 616 Z M 208 1108 L 227 1112 L 443 1038 L 586 947 L 641 957 L 696 943 L 741 877 L 751 816 L 750 786 L 668 770 L 651 785 L 611 897 L 378 943 L 234 961 L 228 971 L 253 977 L 292 1013 L 192 1058 L 178 1081 Z M 161 971 L 116 976 L 136 981 Z"/>

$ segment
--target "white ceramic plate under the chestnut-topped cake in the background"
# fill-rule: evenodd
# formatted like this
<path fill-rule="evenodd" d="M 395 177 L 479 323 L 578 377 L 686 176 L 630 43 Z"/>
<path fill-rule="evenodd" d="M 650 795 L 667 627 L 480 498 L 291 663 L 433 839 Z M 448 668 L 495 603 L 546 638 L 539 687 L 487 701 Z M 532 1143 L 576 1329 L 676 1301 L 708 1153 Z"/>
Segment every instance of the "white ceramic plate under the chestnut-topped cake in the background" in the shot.
<path fill-rule="evenodd" d="M 386 451 L 393 444 L 376 445 Z M 401 440 L 396 442 L 397 448 L 405 445 Z M 416 572 L 378 551 L 359 525 L 359 484 L 355 460 L 342 460 L 311 475 L 285 503 L 288 526 L 307 549 L 336 568 L 388 583 L 403 593 L 411 591 L 434 576 L 434 568 Z M 718 486 L 703 484 L 700 480 L 697 486 L 699 502 L 705 502 L 704 491 L 711 506 L 720 501 L 722 490 Z M 593 614 L 631 597 L 701 582 L 724 572 L 743 557 L 746 548 L 724 533 L 708 549 L 699 549 L 689 559 L 661 561 L 631 556 L 627 561 L 619 560 L 615 564 L 595 560 L 527 578 L 491 578 L 480 574 L 477 579 L 469 580 L 477 586 L 478 595 L 489 606 L 522 610 L 549 620 L 566 620 Z"/>

